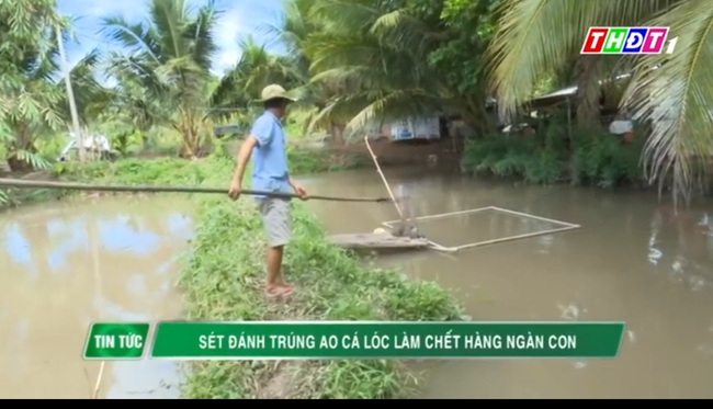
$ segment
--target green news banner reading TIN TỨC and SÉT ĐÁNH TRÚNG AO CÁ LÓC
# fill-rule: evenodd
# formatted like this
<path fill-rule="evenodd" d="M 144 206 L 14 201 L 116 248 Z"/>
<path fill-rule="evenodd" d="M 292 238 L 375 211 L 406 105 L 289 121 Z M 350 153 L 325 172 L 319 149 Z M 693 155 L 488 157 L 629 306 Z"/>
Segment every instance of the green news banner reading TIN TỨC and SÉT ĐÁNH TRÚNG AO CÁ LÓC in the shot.
<path fill-rule="evenodd" d="M 84 359 L 614 357 L 623 322 L 239 321 L 93 323 Z"/>

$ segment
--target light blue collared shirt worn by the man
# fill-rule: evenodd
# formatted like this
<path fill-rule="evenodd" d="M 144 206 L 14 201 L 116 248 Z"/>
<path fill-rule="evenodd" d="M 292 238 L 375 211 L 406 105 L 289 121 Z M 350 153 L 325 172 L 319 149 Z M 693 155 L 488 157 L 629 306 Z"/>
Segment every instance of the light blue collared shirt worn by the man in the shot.
<path fill-rule="evenodd" d="M 252 189 L 290 193 L 292 189 L 287 170 L 287 135 L 282 122 L 275 114 L 265 111 L 254 122 L 250 133 L 258 139 L 253 152 Z"/>

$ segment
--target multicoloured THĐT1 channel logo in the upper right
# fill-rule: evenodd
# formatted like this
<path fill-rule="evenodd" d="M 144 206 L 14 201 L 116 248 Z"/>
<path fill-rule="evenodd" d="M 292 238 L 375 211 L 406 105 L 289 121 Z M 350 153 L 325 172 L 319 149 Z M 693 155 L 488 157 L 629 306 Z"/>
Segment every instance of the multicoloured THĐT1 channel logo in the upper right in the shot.
<path fill-rule="evenodd" d="M 590 27 L 580 54 L 661 54 L 668 27 Z M 674 53 L 678 37 L 668 41 Z"/>

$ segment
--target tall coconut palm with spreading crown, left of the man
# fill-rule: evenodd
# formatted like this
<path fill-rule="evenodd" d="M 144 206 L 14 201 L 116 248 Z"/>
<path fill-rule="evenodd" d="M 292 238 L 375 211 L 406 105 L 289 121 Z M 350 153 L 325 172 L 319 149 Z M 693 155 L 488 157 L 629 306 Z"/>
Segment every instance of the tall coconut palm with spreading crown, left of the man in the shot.
<path fill-rule="evenodd" d="M 182 156 L 193 157 L 202 145 L 219 12 L 213 1 L 194 9 L 185 0 L 151 0 L 148 14 L 137 24 L 118 16 L 104 21 L 103 32 L 127 50 L 111 55 L 111 71 L 140 84 L 137 98 L 172 111 L 169 121 L 182 136 Z"/>

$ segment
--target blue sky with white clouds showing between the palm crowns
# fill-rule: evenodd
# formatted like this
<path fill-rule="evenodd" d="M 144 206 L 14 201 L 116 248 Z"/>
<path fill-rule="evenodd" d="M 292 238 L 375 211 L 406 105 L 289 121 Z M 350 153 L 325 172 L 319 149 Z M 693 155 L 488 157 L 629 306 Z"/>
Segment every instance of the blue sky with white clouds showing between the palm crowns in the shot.
<path fill-rule="evenodd" d="M 191 7 L 201 7 L 207 0 L 186 0 Z M 99 33 L 102 20 L 121 15 L 129 22 L 145 21 L 149 0 L 58 0 L 59 12 L 77 19 L 75 32 L 78 44 L 68 43 L 67 59 L 70 66 L 94 48 L 112 49 Z M 215 39 L 219 52 L 213 60 L 213 71 L 223 73 L 240 57 L 239 42 L 252 35 L 258 43 L 276 47 L 274 37 L 264 27 L 278 24 L 282 0 L 215 0 L 223 13 L 219 16 Z"/>

